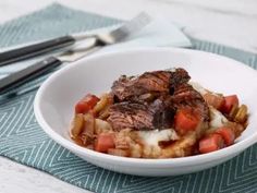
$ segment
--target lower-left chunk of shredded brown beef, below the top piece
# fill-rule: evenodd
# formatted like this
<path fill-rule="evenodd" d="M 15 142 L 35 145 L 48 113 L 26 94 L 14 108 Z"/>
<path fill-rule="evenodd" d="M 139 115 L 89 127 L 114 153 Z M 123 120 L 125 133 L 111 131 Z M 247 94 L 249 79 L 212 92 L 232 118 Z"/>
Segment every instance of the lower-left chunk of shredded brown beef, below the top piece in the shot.
<path fill-rule="evenodd" d="M 113 130 L 167 129 L 173 123 L 174 109 L 166 107 L 157 99 L 151 105 L 123 101 L 110 107 L 107 119 Z"/>

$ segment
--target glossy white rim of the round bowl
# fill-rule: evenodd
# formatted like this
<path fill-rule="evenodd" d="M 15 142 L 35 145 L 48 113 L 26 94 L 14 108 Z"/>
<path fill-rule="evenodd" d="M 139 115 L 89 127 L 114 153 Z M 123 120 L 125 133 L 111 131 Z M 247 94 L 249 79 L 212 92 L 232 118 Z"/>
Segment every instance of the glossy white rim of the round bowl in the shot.
<path fill-rule="evenodd" d="M 83 59 L 79 61 L 74 62 L 73 64 L 69 64 L 63 67 L 62 69 L 58 70 L 57 72 L 54 72 L 53 74 L 51 74 L 39 87 L 38 92 L 36 93 L 35 96 L 35 100 L 34 100 L 34 112 L 35 112 L 35 117 L 37 122 L 39 123 L 40 128 L 53 140 L 56 141 L 58 144 L 60 144 L 61 146 L 70 149 L 71 152 L 78 154 L 78 155 L 86 155 L 89 157 L 95 157 L 97 159 L 105 159 L 106 161 L 110 161 L 110 162 L 115 162 L 115 165 L 123 165 L 124 162 L 136 166 L 138 164 L 142 164 L 140 167 L 143 168 L 147 168 L 147 167 L 156 167 L 156 168 L 164 168 L 166 166 L 188 166 L 188 164 L 198 164 L 201 165 L 203 162 L 206 161 L 213 161 L 213 160 L 219 160 L 221 158 L 225 158 L 232 155 L 237 155 L 240 154 L 242 150 L 246 149 L 247 147 L 249 147 L 250 145 L 253 145 L 254 143 L 257 142 L 257 132 L 254 133 L 250 136 L 247 136 L 245 140 L 240 141 L 235 144 L 233 144 L 232 146 L 222 148 L 220 150 L 217 152 L 212 152 L 212 153 L 208 153 L 208 154 L 203 154 L 203 155 L 196 155 L 196 156 L 188 156 L 188 157 L 180 157 L 180 158 L 163 158 L 163 159 L 149 159 L 149 158 L 131 158 L 131 157 L 119 157 L 119 156 L 112 156 L 112 155 L 108 155 L 108 154 L 103 154 L 103 153 L 98 153 L 91 149 L 87 149 L 85 147 L 78 146 L 77 144 L 66 140 L 65 137 L 61 136 L 60 134 L 58 134 L 56 131 L 53 131 L 51 129 L 51 126 L 47 123 L 47 121 L 45 120 L 41 111 L 40 111 L 40 101 L 42 99 L 42 94 L 45 93 L 45 91 L 48 88 L 48 86 L 50 85 L 51 82 L 53 82 L 56 79 L 58 79 L 59 76 L 62 75 L 62 73 L 69 71 L 71 68 L 74 68 L 75 65 L 79 64 L 79 63 L 85 63 L 85 62 L 90 62 L 91 60 L 97 60 L 98 58 L 102 58 L 102 57 L 113 57 L 115 55 L 124 55 L 124 53 L 133 53 L 133 52 L 137 52 L 137 51 L 172 51 L 174 52 L 184 52 L 184 53 L 188 53 L 188 55 L 208 55 L 210 57 L 219 57 L 222 60 L 228 60 L 228 61 L 232 61 L 235 64 L 240 64 L 243 65 L 242 68 L 246 68 L 249 69 L 252 71 L 254 71 L 257 75 L 257 71 L 255 71 L 254 69 L 252 69 L 248 65 L 245 65 L 242 62 L 238 62 L 236 60 L 223 57 L 223 56 L 219 56 L 219 55 L 215 55 L 215 53 L 210 53 L 210 52 L 206 52 L 206 51 L 200 51 L 200 50 L 189 50 L 189 49 L 183 49 L 183 48 L 145 48 L 145 47 L 140 47 L 140 48 L 131 48 L 131 49 L 125 49 L 125 50 L 115 50 L 115 51 L 108 51 L 108 52 L 103 52 L 103 53 L 96 53 L 94 56 L 89 56 L 87 58 Z"/>

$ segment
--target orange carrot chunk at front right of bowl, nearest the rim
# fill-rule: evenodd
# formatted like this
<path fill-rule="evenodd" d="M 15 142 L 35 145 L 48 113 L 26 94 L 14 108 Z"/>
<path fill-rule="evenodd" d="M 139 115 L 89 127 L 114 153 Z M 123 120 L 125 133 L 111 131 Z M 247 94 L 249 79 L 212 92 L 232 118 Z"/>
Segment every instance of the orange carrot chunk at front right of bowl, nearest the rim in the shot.
<path fill-rule="evenodd" d="M 206 154 L 219 150 L 223 147 L 223 138 L 220 134 L 212 133 L 199 141 L 199 153 Z"/>

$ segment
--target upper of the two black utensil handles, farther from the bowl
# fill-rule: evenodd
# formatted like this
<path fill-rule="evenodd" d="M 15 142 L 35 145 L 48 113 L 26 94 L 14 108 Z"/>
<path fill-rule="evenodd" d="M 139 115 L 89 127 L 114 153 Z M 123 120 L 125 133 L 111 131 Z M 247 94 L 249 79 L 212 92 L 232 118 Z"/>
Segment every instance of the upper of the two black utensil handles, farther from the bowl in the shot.
<path fill-rule="evenodd" d="M 0 52 L 0 67 L 33 58 L 39 55 L 44 55 L 49 51 L 57 50 L 59 48 L 64 48 L 73 45 L 74 43 L 75 38 L 73 38 L 72 36 L 63 36 L 47 41 L 25 46 L 22 48 Z"/>

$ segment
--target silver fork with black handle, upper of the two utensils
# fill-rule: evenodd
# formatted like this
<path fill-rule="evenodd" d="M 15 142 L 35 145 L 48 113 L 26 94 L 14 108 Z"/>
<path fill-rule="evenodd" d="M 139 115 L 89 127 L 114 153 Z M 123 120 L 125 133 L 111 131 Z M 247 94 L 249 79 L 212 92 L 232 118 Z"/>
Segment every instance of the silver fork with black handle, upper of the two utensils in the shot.
<path fill-rule="evenodd" d="M 131 33 L 140 29 L 149 22 L 150 22 L 150 16 L 142 12 L 136 17 L 132 19 L 130 22 L 126 22 L 121 27 L 108 33 L 102 33 L 98 35 L 88 35 L 88 34 L 66 35 L 54 39 L 37 43 L 34 45 L 28 45 L 9 51 L 0 52 L 0 67 L 10 64 L 12 62 L 17 62 L 21 60 L 33 58 L 39 55 L 44 55 L 57 49 L 66 48 L 86 38 L 96 38 L 97 40 L 94 46 L 105 46 L 114 44 L 117 41 L 122 40 Z"/>

